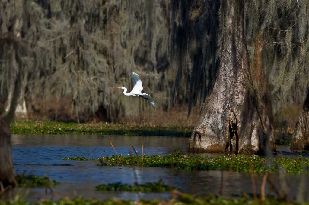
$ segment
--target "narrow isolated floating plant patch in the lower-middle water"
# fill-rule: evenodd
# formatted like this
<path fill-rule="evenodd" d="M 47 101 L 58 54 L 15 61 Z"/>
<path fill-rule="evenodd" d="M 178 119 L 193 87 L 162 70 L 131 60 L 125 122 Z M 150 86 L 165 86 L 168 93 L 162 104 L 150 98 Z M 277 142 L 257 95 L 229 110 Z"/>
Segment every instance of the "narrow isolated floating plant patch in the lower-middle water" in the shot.
<path fill-rule="evenodd" d="M 159 179 L 157 182 L 148 182 L 145 184 L 133 183 L 122 184 L 118 183 L 109 183 L 109 184 L 100 184 L 95 187 L 98 191 L 131 191 L 131 192 L 164 192 L 175 190 L 175 187 L 171 187 L 162 182 L 162 179 Z"/>

